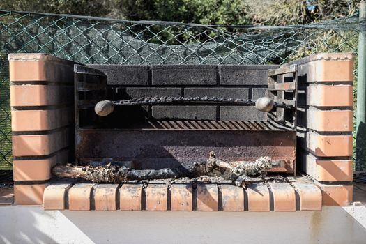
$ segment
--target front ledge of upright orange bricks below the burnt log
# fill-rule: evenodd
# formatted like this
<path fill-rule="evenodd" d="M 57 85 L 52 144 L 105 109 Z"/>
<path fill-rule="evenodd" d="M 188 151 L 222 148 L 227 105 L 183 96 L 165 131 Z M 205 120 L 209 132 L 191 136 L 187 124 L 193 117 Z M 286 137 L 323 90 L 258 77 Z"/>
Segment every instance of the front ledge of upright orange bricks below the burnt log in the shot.
<path fill-rule="evenodd" d="M 247 189 L 216 183 L 54 183 L 45 210 L 70 211 L 321 211 L 322 193 L 303 178 Z"/>

